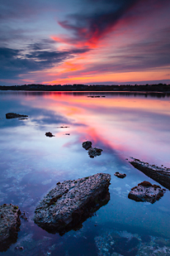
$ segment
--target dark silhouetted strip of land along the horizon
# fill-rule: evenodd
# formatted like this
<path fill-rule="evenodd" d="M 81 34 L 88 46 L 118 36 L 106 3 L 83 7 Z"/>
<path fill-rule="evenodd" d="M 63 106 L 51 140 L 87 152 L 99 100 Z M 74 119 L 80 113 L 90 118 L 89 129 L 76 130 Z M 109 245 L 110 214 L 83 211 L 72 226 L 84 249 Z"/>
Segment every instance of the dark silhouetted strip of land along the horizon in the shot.
<path fill-rule="evenodd" d="M 132 91 L 170 93 L 170 85 L 0 85 L 0 90 L 39 91 Z"/>

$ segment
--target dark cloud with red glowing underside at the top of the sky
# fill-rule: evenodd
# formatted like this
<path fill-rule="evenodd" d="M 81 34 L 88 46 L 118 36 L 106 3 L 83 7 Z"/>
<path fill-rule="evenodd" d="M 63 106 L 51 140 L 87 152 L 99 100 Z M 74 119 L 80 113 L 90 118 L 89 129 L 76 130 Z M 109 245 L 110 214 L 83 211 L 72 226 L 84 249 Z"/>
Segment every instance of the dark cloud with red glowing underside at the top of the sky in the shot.
<path fill-rule="evenodd" d="M 85 9 L 83 13 L 70 15 L 68 20 L 59 22 L 59 24 L 73 31 L 75 42 L 78 40 L 95 44 L 111 31 L 116 22 L 139 0 L 87 0 L 86 2 L 89 5 L 87 12 Z"/>

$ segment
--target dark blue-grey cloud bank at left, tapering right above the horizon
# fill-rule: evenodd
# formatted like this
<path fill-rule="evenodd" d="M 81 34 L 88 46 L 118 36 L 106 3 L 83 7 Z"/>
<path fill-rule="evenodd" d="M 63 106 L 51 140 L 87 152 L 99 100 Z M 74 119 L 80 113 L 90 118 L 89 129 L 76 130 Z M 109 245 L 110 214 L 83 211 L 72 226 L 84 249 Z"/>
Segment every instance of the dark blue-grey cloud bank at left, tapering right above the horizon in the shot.
<path fill-rule="evenodd" d="M 45 68 L 59 65 L 62 61 L 87 51 L 86 49 L 35 51 L 35 49 L 43 48 L 40 43 L 32 45 L 31 48 L 34 51 L 30 51 L 29 53 L 6 47 L 0 48 L 0 79 L 15 79 L 18 78 L 18 75 L 26 74 L 30 71 L 44 70 Z"/>

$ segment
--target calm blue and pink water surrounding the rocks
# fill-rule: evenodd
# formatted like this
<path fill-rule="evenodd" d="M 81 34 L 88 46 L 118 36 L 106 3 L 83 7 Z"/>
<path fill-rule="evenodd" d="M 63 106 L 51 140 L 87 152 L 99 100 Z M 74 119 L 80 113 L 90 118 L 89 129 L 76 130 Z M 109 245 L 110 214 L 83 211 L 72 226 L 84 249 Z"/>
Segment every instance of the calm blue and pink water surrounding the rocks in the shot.
<path fill-rule="evenodd" d="M 8 112 L 29 117 L 6 119 Z M 45 137 L 46 132 L 55 137 Z M 86 140 L 102 148 L 102 155 L 88 157 L 82 147 Z M 19 205 L 28 217 L 21 220 L 17 243 L 0 255 L 109 255 L 100 254 L 95 241 L 112 230 L 170 239 L 169 191 L 153 205 L 128 199 L 139 182 L 158 183 L 125 160 L 136 157 L 170 167 L 168 96 L 1 91 L 0 145 L 0 204 Z M 127 176 L 118 179 L 116 171 Z M 111 174 L 111 200 L 82 229 L 61 237 L 34 224 L 35 206 L 56 182 L 97 172 Z"/>

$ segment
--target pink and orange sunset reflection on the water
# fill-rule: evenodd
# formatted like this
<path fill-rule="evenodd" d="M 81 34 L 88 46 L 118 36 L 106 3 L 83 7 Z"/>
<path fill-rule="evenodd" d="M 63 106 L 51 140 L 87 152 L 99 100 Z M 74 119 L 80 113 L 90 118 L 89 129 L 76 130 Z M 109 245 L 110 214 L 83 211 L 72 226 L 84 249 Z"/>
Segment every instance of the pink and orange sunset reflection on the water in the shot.
<path fill-rule="evenodd" d="M 168 98 L 111 96 L 88 98 L 87 95 L 44 94 L 32 105 L 48 109 L 70 120 L 70 128 L 57 130 L 72 137 L 64 146 L 91 140 L 94 147 L 122 157 L 170 166 L 170 102 Z M 62 123 L 64 124 L 64 123 Z M 71 139 L 72 138 L 72 139 Z"/>

